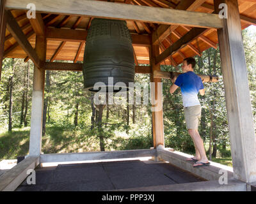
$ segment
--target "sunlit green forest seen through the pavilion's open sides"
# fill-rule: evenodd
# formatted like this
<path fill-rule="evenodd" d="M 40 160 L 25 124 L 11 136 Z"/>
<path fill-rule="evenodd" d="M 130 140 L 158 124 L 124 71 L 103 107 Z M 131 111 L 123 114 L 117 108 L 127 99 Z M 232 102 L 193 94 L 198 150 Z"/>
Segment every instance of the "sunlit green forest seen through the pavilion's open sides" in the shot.
<path fill-rule="evenodd" d="M 252 27 L 244 29 L 243 41 L 255 121 L 256 29 Z M 205 95 L 199 96 L 202 117 L 198 130 L 209 159 L 232 166 L 220 51 L 209 48 L 195 59 L 195 73 L 220 77 L 220 82 L 205 83 Z M 181 72 L 181 67 L 178 68 Z M 161 66 L 161 70 L 175 68 Z M 136 74 L 135 82 L 149 85 L 150 76 Z M 195 154 L 184 122 L 180 89 L 170 94 L 172 83 L 165 79 L 162 82 L 165 147 Z M 29 152 L 32 87 L 33 63 L 4 59 L 0 84 L 0 161 L 17 159 Z M 83 91 L 81 72 L 47 70 L 42 135 L 44 154 L 149 149 L 153 147 L 152 112 L 150 104 L 95 106 L 93 93 Z"/>

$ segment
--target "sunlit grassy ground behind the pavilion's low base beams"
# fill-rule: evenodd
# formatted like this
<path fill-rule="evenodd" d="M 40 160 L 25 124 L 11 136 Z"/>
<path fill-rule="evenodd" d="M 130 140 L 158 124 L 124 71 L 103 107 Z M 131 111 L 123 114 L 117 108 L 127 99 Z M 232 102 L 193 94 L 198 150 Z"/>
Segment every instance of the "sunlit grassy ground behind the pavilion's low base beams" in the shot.
<path fill-rule="evenodd" d="M 17 156 L 26 156 L 29 153 L 30 128 L 14 128 L 0 134 L 0 161 L 2 159 L 17 159 Z M 142 134 L 144 135 L 144 134 Z M 112 143 L 106 145 L 105 150 L 147 149 L 152 147 L 151 136 L 131 136 L 124 138 L 116 136 Z M 147 147 L 146 147 L 147 146 Z M 207 150 L 207 143 L 205 144 Z M 42 136 L 42 152 L 70 153 L 99 151 L 99 139 L 93 135 L 90 128 L 79 128 L 72 125 L 47 125 L 45 136 Z M 212 161 L 232 166 L 232 157 L 212 157 Z"/>

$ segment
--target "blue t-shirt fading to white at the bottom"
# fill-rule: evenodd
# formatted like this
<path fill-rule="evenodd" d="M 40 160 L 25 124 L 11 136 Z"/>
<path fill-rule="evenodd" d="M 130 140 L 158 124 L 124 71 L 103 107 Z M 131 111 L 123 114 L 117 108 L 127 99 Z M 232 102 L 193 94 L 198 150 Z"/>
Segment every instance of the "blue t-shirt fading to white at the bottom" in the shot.
<path fill-rule="evenodd" d="M 174 84 L 181 89 L 184 107 L 200 105 L 197 94 L 200 89 L 204 89 L 204 85 L 193 71 L 179 75 Z"/>

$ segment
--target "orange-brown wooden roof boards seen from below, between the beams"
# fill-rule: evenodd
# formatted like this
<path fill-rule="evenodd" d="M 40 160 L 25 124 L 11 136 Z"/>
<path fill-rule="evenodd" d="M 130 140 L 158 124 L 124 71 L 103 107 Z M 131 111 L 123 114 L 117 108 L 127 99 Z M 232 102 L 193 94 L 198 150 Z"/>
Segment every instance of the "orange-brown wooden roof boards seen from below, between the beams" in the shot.
<path fill-rule="evenodd" d="M 160 8 L 175 8 L 179 5 L 180 0 L 111 0 L 115 3 L 127 3 L 141 6 L 153 6 Z M 241 28 L 244 29 L 249 25 L 256 25 L 256 1 L 255 0 L 238 0 L 239 3 L 239 12 L 241 17 Z M 214 11 L 213 0 L 200 1 L 199 5 L 189 8 L 190 11 L 199 11 L 203 13 L 212 13 Z M 32 47 L 35 48 L 35 32 L 30 24 L 29 19 L 26 17 L 26 11 L 24 10 L 11 10 L 13 17 L 17 20 L 20 28 L 23 33 L 26 34 L 29 43 Z M 90 22 L 92 17 L 77 17 L 71 15 L 60 15 L 54 13 L 42 13 L 42 19 L 44 20 L 45 27 L 49 29 L 49 32 L 53 31 L 52 29 L 66 29 L 74 31 L 88 31 L 90 27 Z M 127 26 L 130 33 L 133 36 L 149 36 L 154 31 L 156 31 L 159 24 L 152 24 L 147 22 L 136 22 L 132 20 L 127 20 Z M 191 27 L 188 26 L 175 26 L 175 30 L 170 32 L 167 38 L 160 42 L 160 53 L 170 47 L 175 41 L 179 40 L 188 33 Z M 172 27 L 171 26 L 171 27 Z M 81 33 L 80 32 L 80 33 Z M 51 33 L 52 34 L 52 33 Z M 81 33 L 82 34 L 82 33 Z M 53 34 L 54 35 L 54 34 Z M 81 36 L 83 38 L 83 36 Z M 60 61 L 83 61 L 84 40 L 79 38 L 79 40 L 63 40 L 63 39 L 54 39 L 47 38 L 47 54 L 46 59 L 50 61 L 60 60 Z M 161 64 L 170 64 L 172 61 L 173 65 L 180 64 L 184 57 L 193 57 L 202 53 L 204 50 L 207 50 L 210 47 L 217 47 L 218 36 L 216 29 L 207 29 L 197 40 L 192 40 L 186 46 L 180 48 L 178 52 L 175 52 L 172 57 L 168 57 L 165 62 Z M 199 46 L 199 48 L 198 48 Z M 134 53 L 136 57 L 136 64 L 149 64 L 149 54 L 148 47 L 141 46 L 138 43 L 133 45 Z M 5 41 L 4 41 L 4 57 L 15 57 L 15 58 L 24 58 L 28 60 L 29 57 L 19 46 L 19 43 L 15 41 L 12 34 L 6 29 Z"/>

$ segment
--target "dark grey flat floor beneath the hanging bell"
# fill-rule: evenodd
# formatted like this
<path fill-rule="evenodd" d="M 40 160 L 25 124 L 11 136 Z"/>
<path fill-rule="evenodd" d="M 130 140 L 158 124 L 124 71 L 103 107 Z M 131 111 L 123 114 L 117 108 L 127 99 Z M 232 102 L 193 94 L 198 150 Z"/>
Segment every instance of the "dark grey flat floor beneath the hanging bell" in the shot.
<path fill-rule="evenodd" d="M 36 184 L 24 180 L 16 191 L 111 191 L 200 181 L 168 163 L 111 161 L 36 168 Z"/>

